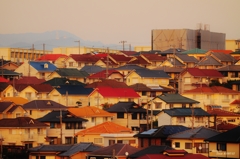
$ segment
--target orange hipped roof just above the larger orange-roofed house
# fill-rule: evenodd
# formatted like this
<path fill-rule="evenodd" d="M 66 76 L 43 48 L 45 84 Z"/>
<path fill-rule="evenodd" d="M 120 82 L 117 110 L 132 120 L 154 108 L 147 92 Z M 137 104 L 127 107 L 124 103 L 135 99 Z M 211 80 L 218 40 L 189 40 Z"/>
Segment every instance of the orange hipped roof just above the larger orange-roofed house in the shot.
<path fill-rule="evenodd" d="M 68 111 L 79 117 L 114 116 L 114 114 L 109 113 L 105 110 L 99 109 L 94 106 L 86 106 L 86 107 L 80 107 L 80 108 L 68 108 Z"/>

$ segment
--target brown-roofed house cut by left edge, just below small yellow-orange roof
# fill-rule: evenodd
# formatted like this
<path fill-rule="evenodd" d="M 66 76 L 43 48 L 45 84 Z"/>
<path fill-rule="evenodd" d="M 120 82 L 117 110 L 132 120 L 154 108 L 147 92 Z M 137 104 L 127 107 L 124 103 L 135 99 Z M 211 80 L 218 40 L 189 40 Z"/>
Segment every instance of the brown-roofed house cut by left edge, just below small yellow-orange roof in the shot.
<path fill-rule="evenodd" d="M 26 116 L 27 111 L 22 106 L 10 101 L 0 102 L 0 119 Z"/>

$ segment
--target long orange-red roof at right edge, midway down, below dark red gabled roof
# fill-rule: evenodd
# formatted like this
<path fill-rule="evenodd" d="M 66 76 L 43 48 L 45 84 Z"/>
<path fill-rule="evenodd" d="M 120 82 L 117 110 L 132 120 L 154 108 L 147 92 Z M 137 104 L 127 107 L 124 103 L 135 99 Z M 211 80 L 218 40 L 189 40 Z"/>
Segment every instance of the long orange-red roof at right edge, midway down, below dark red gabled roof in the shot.
<path fill-rule="evenodd" d="M 222 94 L 238 94 L 238 91 L 234 91 L 229 88 L 222 86 L 213 86 L 213 87 L 198 87 L 192 90 L 187 90 L 184 93 L 222 93 Z"/>

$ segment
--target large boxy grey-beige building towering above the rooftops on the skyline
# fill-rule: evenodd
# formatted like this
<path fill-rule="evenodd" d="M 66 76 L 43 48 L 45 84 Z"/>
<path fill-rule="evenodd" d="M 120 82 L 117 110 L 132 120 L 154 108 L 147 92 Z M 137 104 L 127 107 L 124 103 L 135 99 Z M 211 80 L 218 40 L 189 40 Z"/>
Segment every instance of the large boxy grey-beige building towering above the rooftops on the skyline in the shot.
<path fill-rule="evenodd" d="M 152 30 L 152 50 L 168 50 L 179 48 L 191 50 L 195 48 L 203 50 L 224 50 L 225 33 L 215 33 L 205 25 L 204 29 L 154 29 Z"/>

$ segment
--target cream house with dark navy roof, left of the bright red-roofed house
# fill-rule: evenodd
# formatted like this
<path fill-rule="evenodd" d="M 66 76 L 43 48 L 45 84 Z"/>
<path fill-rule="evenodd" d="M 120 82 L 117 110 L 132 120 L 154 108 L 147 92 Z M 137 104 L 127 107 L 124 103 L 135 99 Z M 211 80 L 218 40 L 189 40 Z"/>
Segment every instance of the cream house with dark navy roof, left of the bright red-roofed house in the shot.
<path fill-rule="evenodd" d="M 93 88 L 85 88 L 84 85 L 59 85 L 49 94 L 49 99 L 67 107 L 76 107 L 81 102 L 82 105 L 90 105 L 89 95 Z"/>

